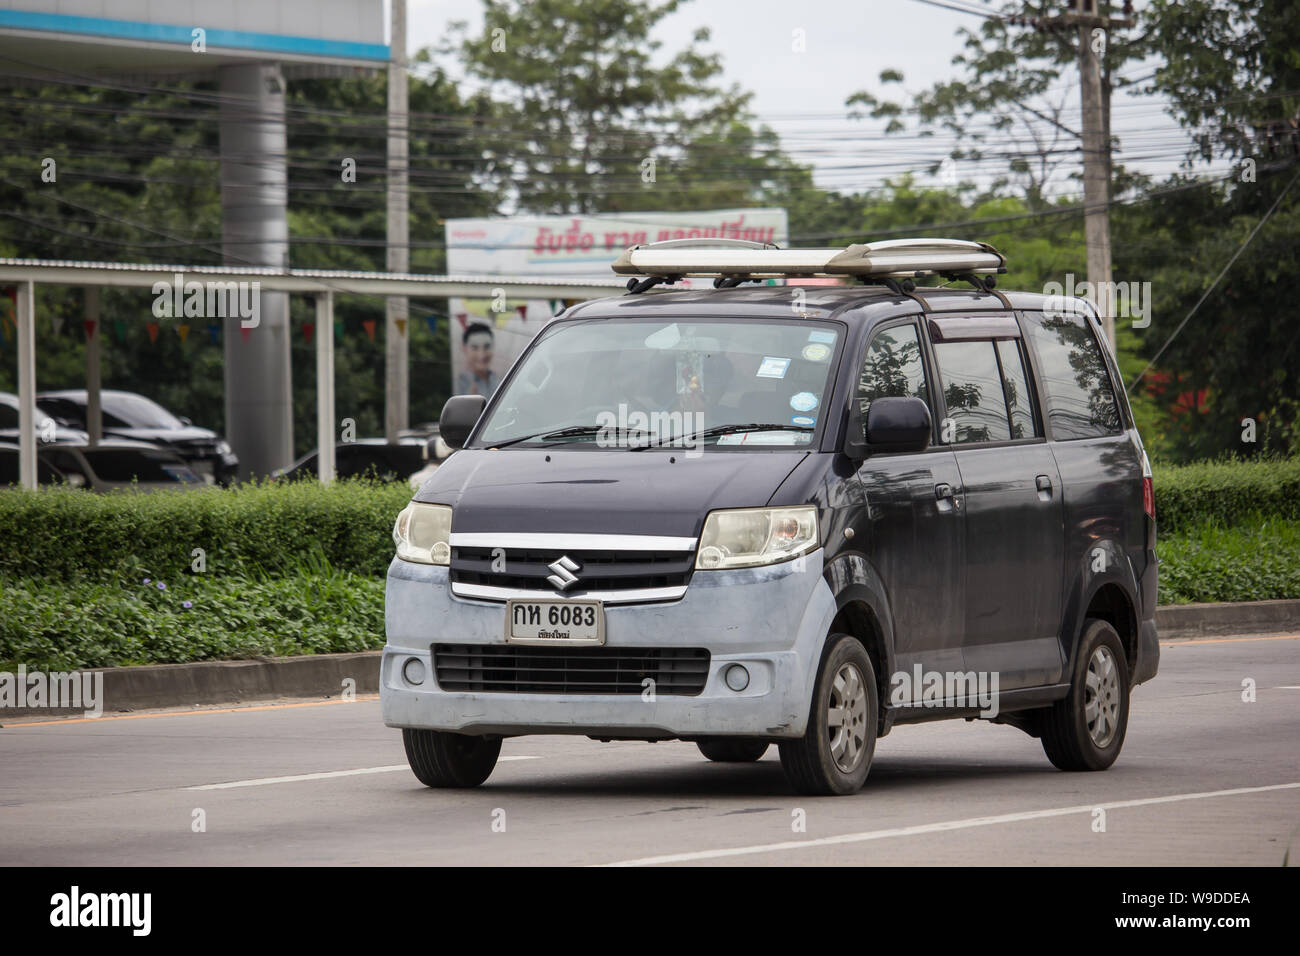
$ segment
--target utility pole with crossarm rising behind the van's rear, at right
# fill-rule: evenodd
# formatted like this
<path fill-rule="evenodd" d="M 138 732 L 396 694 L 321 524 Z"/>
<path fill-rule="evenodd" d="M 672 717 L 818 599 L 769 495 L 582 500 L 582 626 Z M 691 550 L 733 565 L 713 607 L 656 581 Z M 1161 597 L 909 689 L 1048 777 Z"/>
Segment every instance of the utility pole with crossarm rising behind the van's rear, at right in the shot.
<path fill-rule="evenodd" d="M 1126 5 L 1126 13 L 1128 12 Z M 1083 108 L 1083 234 L 1088 247 L 1092 304 L 1115 347 L 1115 316 L 1110 280 L 1110 127 L 1101 90 L 1101 57 L 1110 31 L 1132 26 L 1127 18 L 1104 17 L 1098 0 L 1070 0 L 1070 10 L 1044 21 L 1074 26 L 1079 33 L 1079 91 Z"/>

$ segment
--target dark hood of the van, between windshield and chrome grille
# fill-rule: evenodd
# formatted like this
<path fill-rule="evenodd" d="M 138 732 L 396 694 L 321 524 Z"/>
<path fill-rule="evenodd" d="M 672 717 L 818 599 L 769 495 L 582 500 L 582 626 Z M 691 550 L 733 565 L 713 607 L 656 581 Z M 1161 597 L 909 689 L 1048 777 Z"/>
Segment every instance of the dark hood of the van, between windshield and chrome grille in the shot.
<path fill-rule="evenodd" d="M 807 454 L 464 449 L 415 498 L 451 505 L 456 533 L 694 537 L 714 509 L 766 505 Z"/>

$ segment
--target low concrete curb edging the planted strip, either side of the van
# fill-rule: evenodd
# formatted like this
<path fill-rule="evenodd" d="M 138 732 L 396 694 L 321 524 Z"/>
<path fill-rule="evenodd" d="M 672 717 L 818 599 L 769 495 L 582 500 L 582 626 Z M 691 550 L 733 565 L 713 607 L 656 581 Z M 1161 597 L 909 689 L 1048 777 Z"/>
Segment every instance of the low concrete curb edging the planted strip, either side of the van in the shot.
<path fill-rule="evenodd" d="M 1300 601 L 1166 605 L 1156 610 L 1156 630 L 1162 640 L 1195 640 L 1227 633 L 1300 633 Z M 99 670 L 104 674 L 105 713 L 286 697 L 337 697 L 348 679 L 356 682 L 354 689 L 359 695 L 380 691 L 378 650 Z M 68 708 L 0 708 L 0 718 L 81 713 L 81 709 Z"/>

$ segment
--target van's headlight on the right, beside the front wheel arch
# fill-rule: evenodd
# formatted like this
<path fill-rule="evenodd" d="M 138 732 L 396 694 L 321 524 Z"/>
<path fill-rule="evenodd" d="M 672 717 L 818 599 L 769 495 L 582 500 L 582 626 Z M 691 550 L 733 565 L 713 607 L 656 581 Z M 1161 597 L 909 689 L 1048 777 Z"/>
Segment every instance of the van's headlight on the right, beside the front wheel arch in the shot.
<path fill-rule="evenodd" d="M 712 511 L 699 536 L 696 568 L 776 564 L 806 554 L 818 544 L 816 509 L 811 505 Z"/>

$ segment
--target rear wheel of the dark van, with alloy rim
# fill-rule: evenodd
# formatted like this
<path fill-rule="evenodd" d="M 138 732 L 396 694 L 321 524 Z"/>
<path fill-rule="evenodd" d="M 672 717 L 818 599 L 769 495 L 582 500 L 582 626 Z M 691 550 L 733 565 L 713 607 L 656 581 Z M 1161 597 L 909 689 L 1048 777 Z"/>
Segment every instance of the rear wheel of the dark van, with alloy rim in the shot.
<path fill-rule="evenodd" d="M 1123 641 L 1109 623 L 1089 618 L 1083 623 L 1070 693 L 1043 713 L 1048 760 L 1061 770 L 1105 770 L 1114 763 L 1128 730 L 1128 691 Z"/>

